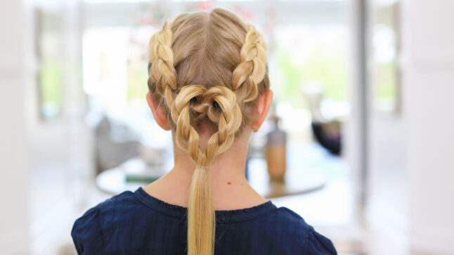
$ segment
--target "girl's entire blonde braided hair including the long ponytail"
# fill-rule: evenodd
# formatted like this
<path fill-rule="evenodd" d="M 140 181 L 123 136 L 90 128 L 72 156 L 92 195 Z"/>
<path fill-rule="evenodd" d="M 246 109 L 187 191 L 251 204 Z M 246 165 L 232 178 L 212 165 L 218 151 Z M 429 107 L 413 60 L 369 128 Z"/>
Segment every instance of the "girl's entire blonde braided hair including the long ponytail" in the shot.
<path fill-rule="evenodd" d="M 269 89 L 266 43 L 252 25 L 220 8 L 179 15 L 150 39 L 148 87 L 195 162 L 188 202 L 188 254 L 214 253 L 209 166 L 228 150 Z M 213 132 L 200 148 L 200 126 Z"/>

